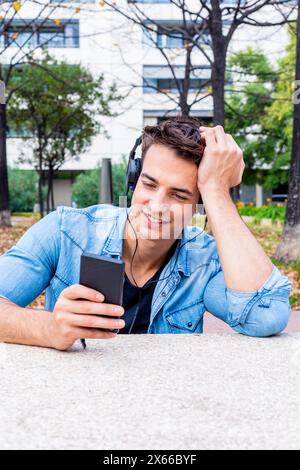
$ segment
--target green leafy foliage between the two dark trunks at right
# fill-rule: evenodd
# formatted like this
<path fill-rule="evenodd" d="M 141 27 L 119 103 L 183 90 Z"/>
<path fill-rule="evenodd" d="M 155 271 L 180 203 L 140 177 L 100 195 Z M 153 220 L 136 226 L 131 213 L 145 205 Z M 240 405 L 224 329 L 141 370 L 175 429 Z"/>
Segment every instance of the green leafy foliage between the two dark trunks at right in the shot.
<path fill-rule="evenodd" d="M 236 85 L 226 98 L 226 129 L 243 149 L 247 169 L 268 164 L 267 172 L 256 172 L 256 182 L 267 189 L 288 182 L 295 45 L 295 29 L 290 26 L 286 54 L 275 67 L 262 51 L 251 48 L 234 54 L 229 62 Z M 246 172 L 244 176 L 251 184 Z"/>

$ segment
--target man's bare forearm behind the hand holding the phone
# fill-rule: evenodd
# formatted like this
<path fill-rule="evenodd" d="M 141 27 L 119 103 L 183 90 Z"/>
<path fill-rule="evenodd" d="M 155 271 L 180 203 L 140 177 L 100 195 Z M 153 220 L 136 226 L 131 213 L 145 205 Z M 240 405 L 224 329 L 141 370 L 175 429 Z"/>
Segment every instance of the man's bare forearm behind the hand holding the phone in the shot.
<path fill-rule="evenodd" d="M 0 299 L 0 342 L 51 346 L 53 315 Z"/>

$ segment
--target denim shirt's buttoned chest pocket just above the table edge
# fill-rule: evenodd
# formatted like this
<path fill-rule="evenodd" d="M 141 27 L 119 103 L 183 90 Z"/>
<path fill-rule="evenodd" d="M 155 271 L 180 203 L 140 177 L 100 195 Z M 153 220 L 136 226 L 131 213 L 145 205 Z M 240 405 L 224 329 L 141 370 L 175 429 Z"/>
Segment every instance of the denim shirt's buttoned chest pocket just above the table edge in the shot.
<path fill-rule="evenodd" d="M 202 333 L 203 301 L 181 307 L 165 314 L 171 333 Z"/>

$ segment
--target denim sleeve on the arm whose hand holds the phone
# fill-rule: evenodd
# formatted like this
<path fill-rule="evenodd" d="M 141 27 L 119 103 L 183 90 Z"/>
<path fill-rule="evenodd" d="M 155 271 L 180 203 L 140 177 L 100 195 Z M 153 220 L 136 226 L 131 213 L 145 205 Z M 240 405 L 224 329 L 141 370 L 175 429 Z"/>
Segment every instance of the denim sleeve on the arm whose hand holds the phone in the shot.
<path fill-rule="evenodd" d="M 53 277 L 60 252 L 58 210 L 34 224 L 0 257 L 0 297 L 26 307 Z"/>

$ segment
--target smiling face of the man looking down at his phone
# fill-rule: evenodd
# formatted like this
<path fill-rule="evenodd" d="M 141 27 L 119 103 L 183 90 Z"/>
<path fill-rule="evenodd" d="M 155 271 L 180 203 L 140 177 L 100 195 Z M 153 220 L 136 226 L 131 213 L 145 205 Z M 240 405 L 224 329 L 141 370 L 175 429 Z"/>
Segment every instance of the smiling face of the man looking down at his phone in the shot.
<path fill-rule="evenodd" d="M 173 239 L 190 223 L 199 200 L 197 165 L 164 145 L 152 145 L 132 197 L 141 238 Z"/>

